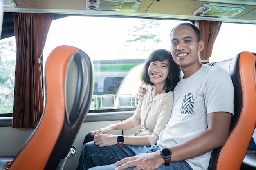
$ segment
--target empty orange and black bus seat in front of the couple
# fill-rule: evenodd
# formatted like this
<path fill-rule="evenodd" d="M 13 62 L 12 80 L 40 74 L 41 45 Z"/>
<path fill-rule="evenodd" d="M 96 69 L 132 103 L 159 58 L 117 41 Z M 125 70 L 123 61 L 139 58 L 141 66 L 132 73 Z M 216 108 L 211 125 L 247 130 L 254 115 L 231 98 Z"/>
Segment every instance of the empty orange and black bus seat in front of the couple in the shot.
<path fill-rule="evenodd" d="M 56 47 L 45 65 L 42 117 L 9 170 L 63 168 L 59 163 L 67 158 L 90 109 L 93 86 L 94 66 L 88 55 L 72 46 Z M 8 159 L 0 157 L 1 164 Z"/>

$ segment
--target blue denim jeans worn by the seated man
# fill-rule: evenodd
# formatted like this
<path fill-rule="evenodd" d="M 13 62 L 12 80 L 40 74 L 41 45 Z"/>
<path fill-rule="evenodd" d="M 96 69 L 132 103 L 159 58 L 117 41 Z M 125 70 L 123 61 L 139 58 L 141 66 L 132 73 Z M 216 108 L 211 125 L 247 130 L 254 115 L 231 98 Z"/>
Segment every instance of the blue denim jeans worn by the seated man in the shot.
<path fill-rule="evenodd" d="M 77 170 L 87 170 L 92 167 L 95 167 L 96 168 L 95 170 L 103 170 L 103 169 L 107 170 L 105 169 L 105 166 L 104 167 L 96 167 L 96 166 L 114 164 L 125 157 L 132 157 L 139 153 L 155 152 L 157 150 L 160 150 L 160 148 L 159 146 L 154 144 L 151 146 L 137 146 L 137 145 L 118 146 L 116 144 L 112 146 L 99 147 L 95 145 L 94 142 L 88 142 L 83 146 Z M 113 167 L 115 166 L 110 165 L 106 168 L 110 168 L 111 170 L 113 170 L 114 169 Z M 170 166 L 163 165 L 161 167 L 163 167 L 164 170 L 174 170 L 174 169 L 177 169 L 177 167 L 179 168 L 183 167 L 184 170 L 192 170 L 192 168 L 186 163 L 186 161 L 175 162 L 175 163 L 171 163 Z M 166 169 L 167 167 L 170 167 L 170 168 L 173 167 L 173 168 Z M 182 168 L 180 169 L 182 170 Z M 162 170 L 162 169 L 159 169 L 159 170 Z"/>

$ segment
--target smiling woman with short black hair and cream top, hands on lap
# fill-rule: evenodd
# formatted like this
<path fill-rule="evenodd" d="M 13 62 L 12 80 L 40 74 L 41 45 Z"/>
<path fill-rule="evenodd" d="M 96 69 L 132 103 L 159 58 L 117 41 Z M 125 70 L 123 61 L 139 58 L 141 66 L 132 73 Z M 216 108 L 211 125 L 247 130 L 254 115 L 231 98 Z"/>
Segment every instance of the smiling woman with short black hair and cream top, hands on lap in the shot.
<path fill-rule="evenodd" d="M 153 51 L 141 73 L 141 81 L 150 94 L 139 100 L 135 113 L 129 119 L 111 124 L 92 132 L 94 143 L 100 147 L 117 144 L 113 130 L 127 130 L 140 126 L 132 136 L 124 136 L 124 144 L 156 144 L 159 133 L 165 128 L 173 104 L 173 88 L 180 79 L 180 67 L 173 61 L 171 53 L 165 49 Z"/>

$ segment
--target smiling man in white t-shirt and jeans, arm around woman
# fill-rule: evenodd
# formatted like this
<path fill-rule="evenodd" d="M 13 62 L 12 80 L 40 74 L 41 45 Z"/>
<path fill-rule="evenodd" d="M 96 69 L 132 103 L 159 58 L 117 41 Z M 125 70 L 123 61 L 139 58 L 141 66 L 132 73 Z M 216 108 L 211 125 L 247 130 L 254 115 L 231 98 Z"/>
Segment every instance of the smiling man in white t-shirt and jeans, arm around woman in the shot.
<path fill-rule="evenodd" d="M 90 170 L 207 170 L 211 151 L 225 144 L 233 114 L 231 78 L 222 68 L 200 64 L 204 42 L 193 24 L 177 25 L 170 39 L 171 55 L 184 76 L 174 90 L 171 118 L 157 145 L 108 150 L 101 157 L 109 163 L 115 154 L 126 158 L 107 166 L 94 163 Z M 100 161 L 99 156 L 89 157 Z"/>

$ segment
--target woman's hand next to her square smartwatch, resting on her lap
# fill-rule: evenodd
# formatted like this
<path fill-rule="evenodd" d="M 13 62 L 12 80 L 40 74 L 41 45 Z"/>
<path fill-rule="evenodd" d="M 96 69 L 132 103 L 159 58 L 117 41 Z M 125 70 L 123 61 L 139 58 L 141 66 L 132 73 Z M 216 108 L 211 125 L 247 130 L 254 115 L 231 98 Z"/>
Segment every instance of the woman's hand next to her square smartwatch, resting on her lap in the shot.
<path fill-rule="evenodd" d="M 117 135 L 95 135 L 93 141 L 95 145 L 98 145 L 99 147 L 111 146 L 117 144 Z"/>

